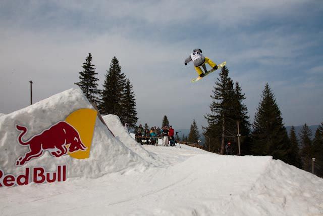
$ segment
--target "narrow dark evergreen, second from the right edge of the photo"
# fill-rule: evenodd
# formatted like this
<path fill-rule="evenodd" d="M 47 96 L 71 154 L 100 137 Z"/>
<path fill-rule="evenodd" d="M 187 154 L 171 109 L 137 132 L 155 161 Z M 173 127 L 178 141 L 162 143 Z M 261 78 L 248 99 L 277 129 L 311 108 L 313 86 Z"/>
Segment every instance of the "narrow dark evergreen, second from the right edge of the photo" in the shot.
<path fill-rule="evenodd" d="M 300 146 L 301 146 L 301 158 L 303 163 L 303 169 L 311 171 L 311 160 L 314 156 L 311 137 L 311 129 L 305 123 L 299 133 Z"/>

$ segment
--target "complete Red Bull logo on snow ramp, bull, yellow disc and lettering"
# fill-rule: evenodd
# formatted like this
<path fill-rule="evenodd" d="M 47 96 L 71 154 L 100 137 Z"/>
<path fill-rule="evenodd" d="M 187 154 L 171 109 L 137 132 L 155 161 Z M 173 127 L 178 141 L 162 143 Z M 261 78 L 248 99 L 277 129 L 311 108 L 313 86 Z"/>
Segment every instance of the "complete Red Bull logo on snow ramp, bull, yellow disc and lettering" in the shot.
<path fill-rule="evenodd" d="M 86 159 L 90 156 L 92 137 L 97 111 L 94 109 L 79 109 L 69 114 L 64 120 L 43 129 L 38 134 L 28 134 L 28 126 L 23 122 L 15 125 L 18 136 L 17 145 L 26 149 L 24 155 L 17 158 L 15 165 L 24 166 L 29 161 L 41 157 L 45 151 L 52 157 L 69 155 L 75 159 Z M 28 135 L 29 139 L 25 137 Z M 27 148 L 26 148 L 27 147 Z M 41 164 L 36 167 L 25 167 L 23 174 L 5 175 L 0 167 L 0 187 L 64 182 L 67 179 L 67 165 L 58 165 L 56 171 L 47 172 Z"/>

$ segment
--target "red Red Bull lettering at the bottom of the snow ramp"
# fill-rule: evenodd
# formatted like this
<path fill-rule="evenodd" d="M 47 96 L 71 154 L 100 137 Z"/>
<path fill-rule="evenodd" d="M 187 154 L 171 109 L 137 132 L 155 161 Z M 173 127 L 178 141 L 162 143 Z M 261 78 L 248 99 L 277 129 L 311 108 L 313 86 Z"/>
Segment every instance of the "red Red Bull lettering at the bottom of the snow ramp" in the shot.
<path fill-rule="evenodd" d="M 0 169 L 0 188 L 28 185 L 32 182 L 35 184 L 65 182 L 67 179 L 66 165 L 58 165 L 56 171 L 46 172 L 43 167 L 26 167 L 24 174 L 14 176 L 5 175 Z"/>

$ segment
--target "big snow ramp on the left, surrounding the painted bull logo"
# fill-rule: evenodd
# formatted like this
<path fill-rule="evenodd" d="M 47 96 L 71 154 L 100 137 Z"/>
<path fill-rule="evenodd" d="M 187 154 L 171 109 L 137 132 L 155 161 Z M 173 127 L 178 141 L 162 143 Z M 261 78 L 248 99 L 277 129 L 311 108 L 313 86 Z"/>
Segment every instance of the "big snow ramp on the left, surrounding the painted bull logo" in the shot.
<path fill-rule="evenodd" d="M 116 139 L 98 117 L 96 117 L 88 159 L 75 159 L 69 155 L 56 158 L 45 151 L 39 158 L 32 159 L 23 166 L 16 166 L 17 158 L 29 151 L 28 146 L 21 146 L 17 141 L 19 132 L 16 124 L 28 126 L 28 132 L 24 136 L 27 140 L 82 108 L 93 109 L 81 90 L 70 89 L 2 116 L 0 118 L 0 168 L 6 174 L 18 175 L 25 166 L 42 166 L 50 171 L 56 170 L 57 164 L 67 164 L 69 178 L 97 178 L 110 172 L 144 170 L 149 166 L 150 163 Z"/>

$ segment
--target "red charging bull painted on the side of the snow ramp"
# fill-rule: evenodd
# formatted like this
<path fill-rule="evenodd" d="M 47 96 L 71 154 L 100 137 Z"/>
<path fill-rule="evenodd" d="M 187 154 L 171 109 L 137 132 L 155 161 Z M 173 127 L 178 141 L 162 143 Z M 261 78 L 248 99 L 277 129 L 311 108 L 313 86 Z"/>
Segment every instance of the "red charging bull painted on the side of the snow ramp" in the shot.
<path fill-rule="evenodd" d="M 23 146 L 29 147 L 29 152 L 19 157 L 16 161 L 17 166 L 24 165 L 29 160 L 40 157 L 45 150 L 49 151 L 54 157 L 61 157 L 67 153 L 85 151 L 87 149 L 82 143 L 78 131 L 65 121 L 59 121 L 28 141 L 22 140 L 22 137 L 28 131 L 27 127 L 16 125 L 16 128 L 18 131 L 21 131 L 18 142 Z"/>

